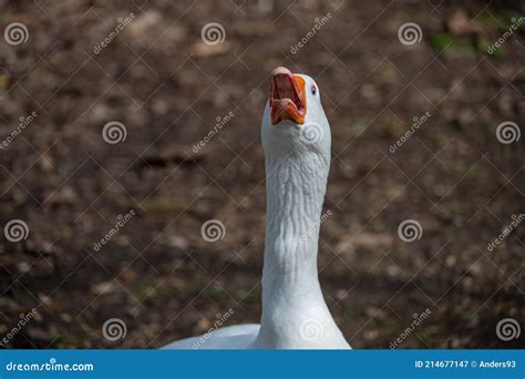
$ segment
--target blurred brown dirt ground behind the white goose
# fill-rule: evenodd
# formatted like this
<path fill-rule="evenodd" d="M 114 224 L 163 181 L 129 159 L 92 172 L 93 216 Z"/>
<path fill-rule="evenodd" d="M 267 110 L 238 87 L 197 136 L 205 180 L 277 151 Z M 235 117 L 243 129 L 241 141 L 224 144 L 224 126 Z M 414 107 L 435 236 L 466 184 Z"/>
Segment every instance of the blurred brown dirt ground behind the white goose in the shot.
<path fill-rule="evenodd" d="M 523 2 L 0 0 L 0 10 L 2 30 L 29 31 L 20 45 L 0 41 L 2 140 L 38 114 L 0 151 L 1 225 L 29 227 L 27 239 L 0 242 L 0 336 L 38 311 L 6 347 L 156 348 L 229 308 L 227 325 L 259 320 L 259 123 L 279 64 L 316 79 L 331 122 L 319 268 L 350 344 L 389 348 L 430 309 L 399 348 L 523 347 L 523 334 L 497 338 L 496 324 L 525 326 L 525 228 L 487 248 L 525 211 L 524 137 L 496 139 L 505 121 L 524 131 L 525 25 L 487 53 Z M 203 43 L 209 22 L 223 43 Z M 419 43 L 400 43 L 405 22 L 421 27 Z M 124 142 L 104 142 L 112 121 Z M 200 236 L 212 218 L 226 228 L 216 243 Z M 420 239 L 399 238 L 405 219 L 422 225 Z M 103 338 L 111 318 L 125 338 Z"/>

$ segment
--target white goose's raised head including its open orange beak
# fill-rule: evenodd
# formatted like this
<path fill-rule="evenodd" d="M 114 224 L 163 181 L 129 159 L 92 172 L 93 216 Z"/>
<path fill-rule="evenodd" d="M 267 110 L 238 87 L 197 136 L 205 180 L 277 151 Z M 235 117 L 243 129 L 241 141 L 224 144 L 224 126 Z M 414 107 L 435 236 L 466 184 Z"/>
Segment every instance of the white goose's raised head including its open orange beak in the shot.
<path fill-rule="evenodd" d="M 284 66 L 274 70 L 261 123 L 267 160 L 318 156 L 328 171 L 330 125 L 321 105 L 319 86 L 308 75 Z"/>

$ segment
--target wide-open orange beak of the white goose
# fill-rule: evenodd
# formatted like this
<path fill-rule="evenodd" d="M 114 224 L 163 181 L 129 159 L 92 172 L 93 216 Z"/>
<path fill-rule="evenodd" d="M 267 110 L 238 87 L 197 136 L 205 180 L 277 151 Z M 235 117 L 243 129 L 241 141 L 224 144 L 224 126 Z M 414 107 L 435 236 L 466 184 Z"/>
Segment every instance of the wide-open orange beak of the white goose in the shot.
<path fill-rule="evenodd" d="M 306 105 L 305 80 L 287 68 L 275 69 L 270 86 L 271 123 L 275 125 L 281 120 L 291 120 L 303 124 Z"/>

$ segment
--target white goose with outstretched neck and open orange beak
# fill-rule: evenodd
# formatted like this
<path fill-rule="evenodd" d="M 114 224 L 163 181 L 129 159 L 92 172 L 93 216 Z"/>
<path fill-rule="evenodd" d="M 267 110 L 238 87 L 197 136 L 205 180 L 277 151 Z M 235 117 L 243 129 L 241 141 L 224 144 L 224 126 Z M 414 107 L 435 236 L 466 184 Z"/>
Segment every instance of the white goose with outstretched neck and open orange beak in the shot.
<path fill-rule="evenodd" d="M 319 285 L 320 215 L 330 168 L 330 125 L 316 82 L 277 68 L 261 124 L 267 223 L 262 316 L 166 349 L 349 349 Z"/>

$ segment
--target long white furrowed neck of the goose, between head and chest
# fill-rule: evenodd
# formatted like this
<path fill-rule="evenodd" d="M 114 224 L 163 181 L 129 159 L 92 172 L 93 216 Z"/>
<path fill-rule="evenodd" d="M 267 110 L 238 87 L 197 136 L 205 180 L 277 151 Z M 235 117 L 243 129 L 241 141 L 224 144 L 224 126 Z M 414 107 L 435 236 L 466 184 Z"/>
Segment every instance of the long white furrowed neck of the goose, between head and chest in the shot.
<path fill-rule="evenodd" d="M 262 307 L 320 297 L 317 254 L 327 171 L 321 156 L 266 160 L 267 223 Z"/>

